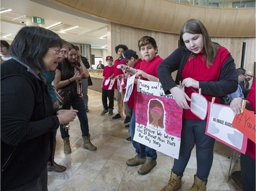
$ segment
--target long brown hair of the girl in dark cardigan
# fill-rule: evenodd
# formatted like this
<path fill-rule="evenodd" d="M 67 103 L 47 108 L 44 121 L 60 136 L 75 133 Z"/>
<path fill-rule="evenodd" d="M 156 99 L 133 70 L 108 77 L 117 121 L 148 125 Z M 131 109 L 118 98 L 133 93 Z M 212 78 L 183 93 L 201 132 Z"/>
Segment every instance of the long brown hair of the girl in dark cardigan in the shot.
<path fill-rule="evenodd" d="M 191 18 L 183 24 L 182 30 L 180 31 L 180 46 L 186 49 L 182 36 L 184 33 L 201 34 L 203 35 L 203 49 L 206 54 L 207 65 L 212 65 L 212 62 L 220 48 L 219 44 L 213 42 L 208 35 L 208 31 L 205 29 L 203 23 L 200 20 Z"/>

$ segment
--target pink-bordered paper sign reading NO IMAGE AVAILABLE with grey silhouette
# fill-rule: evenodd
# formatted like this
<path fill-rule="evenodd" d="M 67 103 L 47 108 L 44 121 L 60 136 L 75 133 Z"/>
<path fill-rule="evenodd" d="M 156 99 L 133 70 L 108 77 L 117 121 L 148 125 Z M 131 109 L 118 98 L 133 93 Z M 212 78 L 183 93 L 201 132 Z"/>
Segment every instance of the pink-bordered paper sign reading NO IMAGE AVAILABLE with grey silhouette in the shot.
<path fill-rule="evenodd" d="M 217 103 L 208 104 L 205 134 L 244 154 L 247 137 L 232 126 L 234 117 L 235 113 L 229 106 Z"/>

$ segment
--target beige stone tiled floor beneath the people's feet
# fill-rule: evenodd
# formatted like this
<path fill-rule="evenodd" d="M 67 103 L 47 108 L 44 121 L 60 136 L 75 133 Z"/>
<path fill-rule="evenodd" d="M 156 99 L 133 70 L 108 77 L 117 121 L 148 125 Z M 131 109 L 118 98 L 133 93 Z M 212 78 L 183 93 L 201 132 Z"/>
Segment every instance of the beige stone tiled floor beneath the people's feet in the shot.
<path fill-rule="evenodd" d="M 116 103 L 115 103 L 116 104 Z M 116 114 L 116 105 L 114 114 Z M 79 120 L 70 124 L 72 153 L 64 154 L 60 133 L 57 133 L 55 161 L 67 167 L 63 173 L 48 172 L 49 191 L 160 191 L 170 176 L 173 158 L 158 152 L 156 167 L 147 175 L 139 175 L 138 167 L 127 167 L 126 160 L 135 156 L 124 120 L 100 116 L 101 93 L 89 90 L 89 131 L 96 152 L 83 149 Z M 214 163 L 208 179 L 208 191 L 238 190 L 230 179 L 227 182 L 231 150 L 216 143 Z M 218 153 L 217 153 L 218 152 Z M 196 172 L 195 149 L 182 177 L 181 191 L 189 190 Z"/>

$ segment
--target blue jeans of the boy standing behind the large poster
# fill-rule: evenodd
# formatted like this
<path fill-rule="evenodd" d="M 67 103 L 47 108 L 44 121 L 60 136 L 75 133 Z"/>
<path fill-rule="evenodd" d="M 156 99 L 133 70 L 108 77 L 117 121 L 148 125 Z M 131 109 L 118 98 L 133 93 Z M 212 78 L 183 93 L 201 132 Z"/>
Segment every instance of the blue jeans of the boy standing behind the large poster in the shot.
<path fill-rule="evenodd" d="M 130 120 L 129 128 L 130 128 L 130 137 L 132 137 L 132 145 L 137 153 L 137 156 L 139 158 L 147 157 L 150 160 L 156 160 L 156 158 L 157 158 L 156 150 L 133 140 L 134 133 L 135 133 L 135 114 L 134 114 L 134 112 L 132 112 L 132 118 Z"/>

